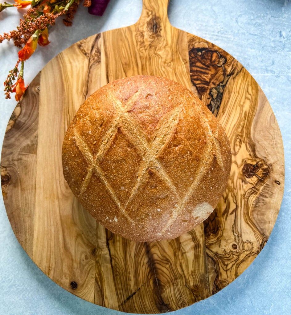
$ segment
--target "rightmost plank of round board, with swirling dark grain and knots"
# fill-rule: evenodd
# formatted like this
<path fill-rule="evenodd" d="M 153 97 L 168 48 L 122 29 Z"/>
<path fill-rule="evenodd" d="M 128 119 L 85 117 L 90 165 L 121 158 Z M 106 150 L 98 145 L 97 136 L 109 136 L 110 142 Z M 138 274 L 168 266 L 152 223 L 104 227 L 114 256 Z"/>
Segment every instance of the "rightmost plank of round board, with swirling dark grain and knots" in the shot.
<path fill-rule="evenodd" d="M 228 188 L 204 222 L 216 293 L 251 264 L 270 236 L 283 192 L 276 179 L 284 177 L 283 152 L 277 151 L 283 146 L 270 105 L 251 75 L 199 37 L 188 34 L 188 49 L 193 90 L 222 123 L 233 155 Z"/>

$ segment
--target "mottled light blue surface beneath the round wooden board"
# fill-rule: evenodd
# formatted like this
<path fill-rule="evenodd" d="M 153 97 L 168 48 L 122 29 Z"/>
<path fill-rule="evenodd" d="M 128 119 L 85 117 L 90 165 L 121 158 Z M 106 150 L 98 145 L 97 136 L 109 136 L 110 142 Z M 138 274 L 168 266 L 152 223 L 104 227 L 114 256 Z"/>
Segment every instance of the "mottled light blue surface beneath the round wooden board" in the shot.
<path fill-rule="evenodd" d="M 15 29 L 23 12 L 10 8 L 0 13 L 0 33 Z M 37 49 L 26 62 L 26 83 L 71 44 L 101 31 L 134 24 L 140 12 L 141 0 L 111 0 L 103 17 L 87 14 L 87 9 L 80 5 L 73 26 L 65 27 L 58 21 L 50 30 L 50 45 Z M 252 74 L 273 108 L 285 150 L 284 198 L 262 252 L 225 289 L 173 314 L 290 314 L 291 1 L 171 0 L 168 13 L 173 26 L 220 46 Z M 0 45 L 0 81 L 14 67 L 18 50 L 12 43 Z M 0 92 L 0 146 L 15 106 L 15 100 L 5 100 Z M 124 313 L 83 301 L 47 278 L 15 238 L 1 198 L 0 315 L 8 314 Z"/>

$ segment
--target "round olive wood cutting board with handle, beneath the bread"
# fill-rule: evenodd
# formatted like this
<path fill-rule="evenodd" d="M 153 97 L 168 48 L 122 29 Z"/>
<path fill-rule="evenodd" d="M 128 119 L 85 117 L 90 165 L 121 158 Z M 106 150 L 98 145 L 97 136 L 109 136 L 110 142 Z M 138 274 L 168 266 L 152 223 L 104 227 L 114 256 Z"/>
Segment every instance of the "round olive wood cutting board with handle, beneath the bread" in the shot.
<path fill-rule="evenodd" d="M 17 104 L 1 156 L 4 203 L 23 249 L 62 288 L 124 312 L 175 311 L 223 289 L 264 247 L 283 196 L 282 138 L 264 93 L 223 49 L 171 26 L 167 7 L 168 0 L 144 0 L 136 24 L 53 58 Z M 104 84 L 137 74 L 192 89 L 231 144 L 216 209 L 170 241 L 114 235 L 83 209 L 62 174 L 62 141 L 79 106 Z"/>

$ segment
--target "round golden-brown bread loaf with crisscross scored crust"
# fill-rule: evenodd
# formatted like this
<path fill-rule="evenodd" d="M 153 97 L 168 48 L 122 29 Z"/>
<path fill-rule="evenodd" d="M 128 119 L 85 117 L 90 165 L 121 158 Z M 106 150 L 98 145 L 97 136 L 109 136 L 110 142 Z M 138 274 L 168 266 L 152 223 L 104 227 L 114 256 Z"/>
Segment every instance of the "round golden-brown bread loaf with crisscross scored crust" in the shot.
<path fill-rule="evenodd" d="M 63 141 L 64 177 L 91 215 L 134 241 L 176 238 L 204 221 L 225 190 L 229 140 L 180 83 L 116 80 L 80 107 Z"/>

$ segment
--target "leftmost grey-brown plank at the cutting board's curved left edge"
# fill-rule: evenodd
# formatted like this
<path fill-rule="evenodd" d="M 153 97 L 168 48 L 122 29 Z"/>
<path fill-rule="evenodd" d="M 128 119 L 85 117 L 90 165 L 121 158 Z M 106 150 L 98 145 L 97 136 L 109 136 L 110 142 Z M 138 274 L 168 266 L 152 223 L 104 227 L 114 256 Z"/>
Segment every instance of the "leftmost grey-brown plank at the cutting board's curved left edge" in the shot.
<path fill-rule="evenodd" d="M 9 120 L 1 155 L 1 188 L 13 231 L 27 254 L 33 253 L 33 218 L 36 191 L 35 169 L 39 117 L 38 74 L 27 88 L 27 97 Z M 15 127 L 17 124 L 17 127 Z M 12 144 L 17 146 L 13 152 Z"/>

